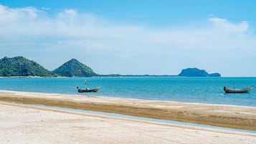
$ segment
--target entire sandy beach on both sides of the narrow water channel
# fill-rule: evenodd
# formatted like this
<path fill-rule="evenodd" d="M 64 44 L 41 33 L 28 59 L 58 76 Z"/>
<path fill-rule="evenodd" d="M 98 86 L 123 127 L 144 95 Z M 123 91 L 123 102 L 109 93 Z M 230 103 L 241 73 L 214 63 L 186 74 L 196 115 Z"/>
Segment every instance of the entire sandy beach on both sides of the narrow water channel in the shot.
<path fill-rule="evenodd" d="M 256 143 L 255 133 L 24 104 L 117 112 L 248 130 L 256 127 L 255 107 L 1 90 L 0 143 Z"/>

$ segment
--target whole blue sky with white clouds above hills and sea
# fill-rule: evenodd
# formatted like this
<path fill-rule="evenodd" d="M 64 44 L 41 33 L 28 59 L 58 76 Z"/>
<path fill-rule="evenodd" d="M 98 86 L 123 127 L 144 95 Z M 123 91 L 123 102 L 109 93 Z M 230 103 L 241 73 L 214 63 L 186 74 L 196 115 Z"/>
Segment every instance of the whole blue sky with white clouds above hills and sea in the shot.
<path fill-rule="evenodd" d="M 256 77 L 253 0 L 0 0 L 0 58 L 49 70 L 75 58 L 101 75 L 197 67 Z"/>

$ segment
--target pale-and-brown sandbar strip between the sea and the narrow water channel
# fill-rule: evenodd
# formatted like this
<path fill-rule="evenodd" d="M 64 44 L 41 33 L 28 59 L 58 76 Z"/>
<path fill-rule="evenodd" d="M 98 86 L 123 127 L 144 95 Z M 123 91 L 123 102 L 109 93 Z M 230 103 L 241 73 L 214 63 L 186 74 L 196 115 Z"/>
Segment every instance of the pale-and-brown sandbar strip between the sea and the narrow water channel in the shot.
<path fill-rule="evenodd" d="M 256 130 L 256 107 L 0 90 L 0 101 Z"/>

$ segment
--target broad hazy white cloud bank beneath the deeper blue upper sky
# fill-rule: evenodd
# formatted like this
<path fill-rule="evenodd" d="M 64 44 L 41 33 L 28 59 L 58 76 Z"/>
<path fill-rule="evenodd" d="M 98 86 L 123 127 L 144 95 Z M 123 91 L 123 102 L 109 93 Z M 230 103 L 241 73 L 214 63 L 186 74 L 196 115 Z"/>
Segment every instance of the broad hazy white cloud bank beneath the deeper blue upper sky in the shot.
<path fill-rule="evenodd" d="M 183 68 L 199 67 L 232 76 L 252 70 L 244 63 L 256 58 L 249 22 L 214 16 L 161 28 L 75 9 L 50 14 L 32 6 L 0 5 L 0 42 L 1 57 L 23 55 L 48 69 L 77 58 L 100 74 L 176 75 Z"/>

